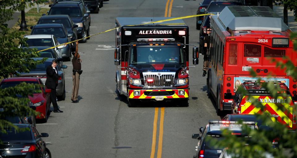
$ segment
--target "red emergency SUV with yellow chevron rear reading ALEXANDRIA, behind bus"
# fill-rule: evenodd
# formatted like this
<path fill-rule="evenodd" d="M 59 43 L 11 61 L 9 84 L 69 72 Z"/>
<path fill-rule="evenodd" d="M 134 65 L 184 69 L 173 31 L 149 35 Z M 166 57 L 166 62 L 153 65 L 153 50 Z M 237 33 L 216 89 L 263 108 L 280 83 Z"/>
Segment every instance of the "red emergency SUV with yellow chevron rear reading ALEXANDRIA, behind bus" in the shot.
<path fill-rule="evenodd" d="M 268 82 L 268 81 L 261 81 Z M 272 121 L 278 121 L 285 124 L 290 129 L 296 129 L 296 120 L 293 113 L 294 102 L 285 83 L 275 82 L 274 86 L 279 85 L 285 95 L 279 95 L 273 98 L 269 91 L 262 87 L 261 83 L 244 81 L 242 86 L 248 94 L 243 95 L 236 91 L 232 101 L 233 114 L 262 114 L 263 112 L 269 113 Z M 251 96 L 251 97 L 249 97 Z M 261 111 L 260 107 L 255 107 L 252 103 L 258 100 L 264 107 Z"/>

